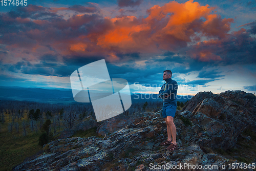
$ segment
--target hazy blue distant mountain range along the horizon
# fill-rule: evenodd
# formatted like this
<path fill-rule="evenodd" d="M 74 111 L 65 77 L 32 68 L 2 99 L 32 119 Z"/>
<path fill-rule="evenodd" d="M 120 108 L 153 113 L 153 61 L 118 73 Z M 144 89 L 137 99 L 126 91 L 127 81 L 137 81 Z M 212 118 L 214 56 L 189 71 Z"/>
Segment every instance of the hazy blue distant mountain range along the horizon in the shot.
<path fill-rule="evenodd" d="M 157 94 L 132 94 L 132 102 L 154 101 L 158 99 Z M 185 102 L 193 96 L 177 95 L 177 101 Z M 0 99 L 4 100 L 27 100 L 44 103 L 77 103 L 73 99 L 71 89 L 42 89 L 0 86 Z"/>

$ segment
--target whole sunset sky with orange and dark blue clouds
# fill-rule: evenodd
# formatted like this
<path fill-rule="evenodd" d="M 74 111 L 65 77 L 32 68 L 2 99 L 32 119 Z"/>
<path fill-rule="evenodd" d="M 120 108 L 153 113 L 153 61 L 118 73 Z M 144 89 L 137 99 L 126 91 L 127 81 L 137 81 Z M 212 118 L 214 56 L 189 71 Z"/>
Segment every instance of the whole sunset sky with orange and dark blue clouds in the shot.
<path fill-rule="evenodd" d="M 105 59 L 133 93 L 256 92 L 256 1 L 60 1 L 0 4 L 0 86 L 70 89 Z M 8 2 L 9 4 L 9 2 Z"/>

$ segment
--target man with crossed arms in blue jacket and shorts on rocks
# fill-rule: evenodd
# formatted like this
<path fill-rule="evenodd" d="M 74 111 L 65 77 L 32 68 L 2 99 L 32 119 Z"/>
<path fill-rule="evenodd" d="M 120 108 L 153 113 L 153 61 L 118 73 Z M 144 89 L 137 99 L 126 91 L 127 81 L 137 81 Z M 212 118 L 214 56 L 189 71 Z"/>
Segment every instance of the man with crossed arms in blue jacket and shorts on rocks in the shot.
<path fill-rule="evenodd" d="M 166 148 L 168 151 L 174 151 L 178 147 L 176 142 L 176 127 L 174 124 L 174 116 L 177 109 L 176 96 L 178 84 L 172 79 L 172 75 L 172 71 L 170 70 L 165 70 L 163 72 L 163 80 L 165 80 L 165 84 L 163 84 L 158 93 L 158 97 L 163 99 L 162 115 L 163 118 L 165 118 L 168 135 L 167 140 L 160 143 L 160 145 L 169 145 Z"/>

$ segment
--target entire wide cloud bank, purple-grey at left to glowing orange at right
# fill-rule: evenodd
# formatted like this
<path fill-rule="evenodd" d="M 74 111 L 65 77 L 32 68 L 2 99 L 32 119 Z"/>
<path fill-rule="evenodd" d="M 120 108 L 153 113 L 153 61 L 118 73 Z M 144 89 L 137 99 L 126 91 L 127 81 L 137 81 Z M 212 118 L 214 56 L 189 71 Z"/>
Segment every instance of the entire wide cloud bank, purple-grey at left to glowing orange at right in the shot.
<path fill-rule="evenodd" d="M 73 10 L 82 14 L 73 15 L 68 19 L 52 17 L 41 20 L 36 18 L 3 15 L 3 21 L 26 25 L 35 23 L 34 29 L 19 32 L 20 46 L 23 41 L 29 41 L 31 47 L 36 44 L 45 46 L 61 55 L 77 56 L 106 56 L 119 59 L 117 54 L 159 54 L 163 51 L 177 52 L 186 48 L 188 43 L 196 44 L 191 57 L 202 60 L 222 60 L 215 55 L 214 50 L 207 46 L 219 45 L 219 39 L 225 38 L 230 30 L 232 18 L 222 19 L 220 15 L 212 13 L 216 7 L 201 6 L 193 0 L 185 3 L 172 1 L 163 6 L 155 5 L 147 10 L 147 17 L 116 16 L 114 18 L 98 15 L 98 6 L 71 6 L 68 8 L 43 8 L 33 6 L 29 10 L 57 12 L 59 10 Z M 119 12 L 123 12 L 122 9 Z M 85 14 L 86 13 L 86 14 Z M 88 13 L 94 13 L 88 14 Z M 58 14 L 54 14 L 58 16 Z M 35 15 L 37 16 L 37 15 Z M 40 25 L 40 27 L 38 27 Z M 30 28 L 30 26 L 28 27 Z M 209 40 L 201 41 L 206 36 Z M 14 40 L 6 39 L 10 44 Z M 190 44 L 191 45 L 191 44 Z M 207 50 L 199 47 L 206 47 Z M 38 48 L 35 48 L 37 50 Z M 189 48 L 188 48 L 189 49 Z"/>

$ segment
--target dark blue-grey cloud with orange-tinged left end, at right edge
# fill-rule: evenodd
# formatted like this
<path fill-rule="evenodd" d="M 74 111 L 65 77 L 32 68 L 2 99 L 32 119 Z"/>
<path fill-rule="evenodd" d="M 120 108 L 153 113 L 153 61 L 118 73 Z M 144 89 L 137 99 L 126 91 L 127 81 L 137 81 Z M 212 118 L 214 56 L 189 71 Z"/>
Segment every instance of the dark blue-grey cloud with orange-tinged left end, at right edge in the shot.
<path fill-rule="evenodd" d="M 253 30 L 250 30 L 253 32 Z M 208 65 L 226 66 L 234 63 L 256 63 L 256 38 L 250 32 L 240 29 L 221 39 L 211 39 L 188 47 L 191 58 L 205 61 Z M 192 65 L 191 65 L 192 66 Z"/>

